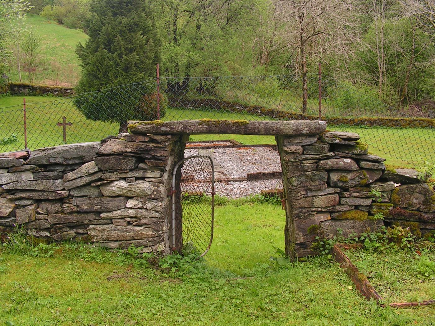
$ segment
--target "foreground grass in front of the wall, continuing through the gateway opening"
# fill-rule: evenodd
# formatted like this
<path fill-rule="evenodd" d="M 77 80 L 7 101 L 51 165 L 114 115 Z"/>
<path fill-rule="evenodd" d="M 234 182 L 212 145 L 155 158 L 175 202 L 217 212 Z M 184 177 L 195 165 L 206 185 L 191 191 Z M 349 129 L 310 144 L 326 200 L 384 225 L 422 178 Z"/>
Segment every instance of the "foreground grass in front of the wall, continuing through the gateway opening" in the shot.
<path fill-rule="evenodd" d="M 119 257 L 97 263 L 80 250 L 44 258 L 0 249 L 0 324 L 433 325 L 435 306 L 379 308 L 326 258 L 275 267 L 280 206 L 218 206 L 215 223 L 206 263 L 238 275 L 173 274 Z"/>

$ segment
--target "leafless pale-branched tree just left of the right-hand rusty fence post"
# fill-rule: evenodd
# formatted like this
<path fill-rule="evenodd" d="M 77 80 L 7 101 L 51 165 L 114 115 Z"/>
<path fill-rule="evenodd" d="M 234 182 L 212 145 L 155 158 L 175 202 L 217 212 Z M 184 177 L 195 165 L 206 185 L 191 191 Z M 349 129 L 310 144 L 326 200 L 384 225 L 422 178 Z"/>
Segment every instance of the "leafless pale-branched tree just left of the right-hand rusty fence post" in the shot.
<path fill-rule="evenodd" d="M 302 112 L 308 107 L 308 58 L 341 48 L 351 34 L 351 0 L 281 0 L 291 57 L 302 76 Z M 289 59 L 291 61 L 291 59 Z"/>

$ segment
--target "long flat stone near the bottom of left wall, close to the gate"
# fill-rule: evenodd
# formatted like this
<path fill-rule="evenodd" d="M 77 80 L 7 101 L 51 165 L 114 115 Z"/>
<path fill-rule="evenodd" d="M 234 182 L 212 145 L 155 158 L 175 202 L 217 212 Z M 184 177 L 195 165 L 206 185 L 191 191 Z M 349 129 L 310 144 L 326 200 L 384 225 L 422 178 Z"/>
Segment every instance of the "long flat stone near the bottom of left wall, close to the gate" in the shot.
<path fill-rule="evenodd" d="M 148 227 L 117 226 L 113 224 L 90 225 L 88 233 L 93 241 L 125 241 L 154 238 L 159 234 Z"/>

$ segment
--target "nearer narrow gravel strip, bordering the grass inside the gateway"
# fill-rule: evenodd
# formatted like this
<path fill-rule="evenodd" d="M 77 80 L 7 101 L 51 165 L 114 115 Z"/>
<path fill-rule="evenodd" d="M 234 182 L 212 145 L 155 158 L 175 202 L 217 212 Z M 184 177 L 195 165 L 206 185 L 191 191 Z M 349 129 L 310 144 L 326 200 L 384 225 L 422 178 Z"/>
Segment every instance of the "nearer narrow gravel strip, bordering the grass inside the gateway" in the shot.
<path fill-rule="evenodd" d="M 246 197 L 269 189 L 282 189 L 281 179 L 214 183 L 214 192 L 228 198 Z"/>

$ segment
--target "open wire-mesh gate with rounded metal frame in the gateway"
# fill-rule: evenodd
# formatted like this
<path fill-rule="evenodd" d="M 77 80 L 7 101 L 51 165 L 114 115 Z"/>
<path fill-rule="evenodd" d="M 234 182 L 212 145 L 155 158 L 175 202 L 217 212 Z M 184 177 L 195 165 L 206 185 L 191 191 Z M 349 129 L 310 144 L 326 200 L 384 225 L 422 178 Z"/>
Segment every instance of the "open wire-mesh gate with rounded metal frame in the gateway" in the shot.
<path fill-rule="evenodd" d="M 204 256 L 213 241 L 214 165 L 210 156 L 189 156 L 172 175 L 172 249 Z"/>

